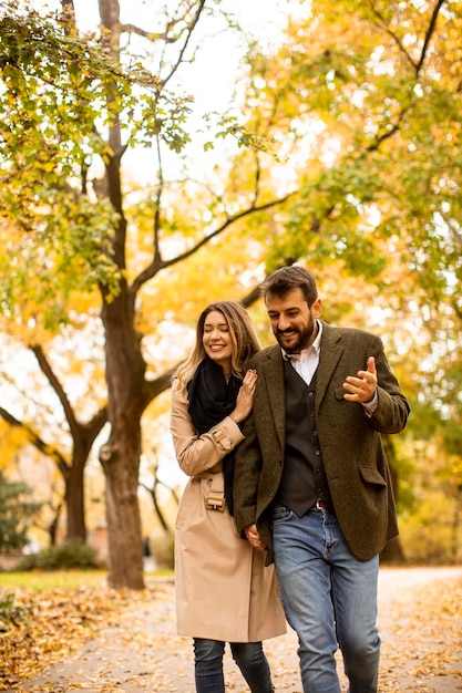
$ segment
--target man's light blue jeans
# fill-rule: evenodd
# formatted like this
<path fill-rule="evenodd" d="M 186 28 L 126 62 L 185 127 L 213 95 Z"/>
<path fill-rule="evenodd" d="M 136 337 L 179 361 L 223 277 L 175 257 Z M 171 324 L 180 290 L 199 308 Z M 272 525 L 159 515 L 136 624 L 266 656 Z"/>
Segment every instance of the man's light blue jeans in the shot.
<path fill-rule="evenodd" d="M 349 693 L 377 693 L 378 556 L 356 558 L 332 513 L 273 511 L 274 551 L 287 621 L 298 634 L 304 693 L 340 693 L 337 647 Z"/>

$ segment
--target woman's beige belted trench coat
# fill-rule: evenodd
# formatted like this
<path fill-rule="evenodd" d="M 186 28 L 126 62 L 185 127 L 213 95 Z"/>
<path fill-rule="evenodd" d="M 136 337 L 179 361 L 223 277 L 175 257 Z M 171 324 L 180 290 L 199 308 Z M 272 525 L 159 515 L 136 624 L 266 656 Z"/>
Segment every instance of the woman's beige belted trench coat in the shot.
<path fill-rule="evenodd" d="M 171 431 L 179 467 L 191 478 L 175 527 L 175 592 L 179 635 L 257 642 L 286 632 L 273 566 L 235 528 L 224 500 L 223 457 L 244 436 L 229 417 L 198 436 L 173 386 Z M 206 496 L 224 510 L 206 508 Z"/>

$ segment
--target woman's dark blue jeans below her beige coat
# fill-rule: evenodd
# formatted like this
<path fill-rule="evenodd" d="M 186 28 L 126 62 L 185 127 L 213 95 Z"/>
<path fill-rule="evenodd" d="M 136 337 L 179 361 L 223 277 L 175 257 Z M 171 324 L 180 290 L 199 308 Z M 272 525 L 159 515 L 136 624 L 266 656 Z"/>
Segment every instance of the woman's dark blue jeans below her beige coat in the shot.
<path fill-rule="evenodd" d="M 261 642 L 230 642 L 233 659 L 251 693 L 271 693 L 271 676 Z M 225 643 L 194 638 L 194 662 L 197 693 L 225 693 L 223 655 Z"/>

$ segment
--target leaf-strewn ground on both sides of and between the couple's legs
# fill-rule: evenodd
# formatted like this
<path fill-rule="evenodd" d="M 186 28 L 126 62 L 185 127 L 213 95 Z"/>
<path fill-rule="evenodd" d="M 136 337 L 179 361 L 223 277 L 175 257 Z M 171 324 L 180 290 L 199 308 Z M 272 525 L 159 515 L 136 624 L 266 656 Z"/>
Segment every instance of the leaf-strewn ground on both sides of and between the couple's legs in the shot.
<path fill-rule="evenodd" d="M 384 575 L 379 606 L 380 693 L 462 692 L 462 580 L 410 587 L 401 583 L 401 575 L 404 578 L 405 570 L 398 577 Z M 142 592 L 17 591 L 25 618 L 0 633 L 6 666 L 0 690 L 191 693 L 193 648 L 191 639 L 176 635 L 173 594 L 172 581 L 155 582 Z M 266 641 L 265 651 L 276 690 L 299 693 L 295 633 Z M 248 693 L 228 650 L 225 659 L 227 690 Z M 38 678 L 57 662 L 59 668 Z M 346 690 L 340 655 L 338 671 Z"/>

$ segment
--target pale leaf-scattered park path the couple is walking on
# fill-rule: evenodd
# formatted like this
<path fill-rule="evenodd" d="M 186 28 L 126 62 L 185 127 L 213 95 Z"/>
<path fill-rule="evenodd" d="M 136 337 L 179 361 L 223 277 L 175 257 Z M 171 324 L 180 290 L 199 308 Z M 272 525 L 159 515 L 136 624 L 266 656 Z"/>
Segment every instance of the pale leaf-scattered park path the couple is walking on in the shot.
<path fill-rule="evenodd" d="M 462 691 L 462 567 L 382 568 L 379 628 L 380 693 Z M 265 643 L 277 693 L 301 691 L 296 649 L 290 629 Z M 228 651 L 225 672 L 227 691 L 248 692 Z M 117 627 L 103 629 L 81 650 L 10 691 L 194 693 L 191 640 L 175 634 L 173 580 L 156 580 L 143 607 L 134 603 Z"/>

